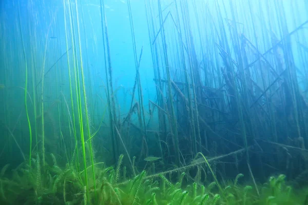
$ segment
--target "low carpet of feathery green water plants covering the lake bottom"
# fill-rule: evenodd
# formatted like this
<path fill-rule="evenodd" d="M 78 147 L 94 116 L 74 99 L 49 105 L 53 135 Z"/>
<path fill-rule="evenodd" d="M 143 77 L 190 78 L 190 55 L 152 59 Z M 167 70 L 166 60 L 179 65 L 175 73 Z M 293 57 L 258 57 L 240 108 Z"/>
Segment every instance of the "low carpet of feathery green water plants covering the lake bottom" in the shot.
<path fill-rule="evenodd" d="M 42 154 L 36 153 L 32 164 L 24 162 L 12 170 L 8 177 L 9 165 L 0 172 L 0 202 L 2 204 L 228 204 L 228 205 L 274 205 L 303 204 L 308 194 L 306 188 L 294 190 L 287 185 L 285 175 L 270 177 L 259 185 L 260 196 L 247 182 L 243 174 L 221 183 L 190 182 L 184 186 L 185 172 L 172 182 L 160 174 L 159 178 L 147 178 L 142 171 L 136 177 L 124 180 L 121 174 L 123 155 L 119 157 L 116 169 L 105 167 L 104 163 L 94 164 L 95 178 L 89 182 L 89 192 L 83 183 L 82 173 L 74 166 L 60 167 L 55 156 L 46 156 L 46 170 L 42 171 Z M 91 167 L 91 166 L 90 166 Z M 87 169 L 89 169 L 88 167 Z M 83 176 L 80 178 L 79 176 Z M 118 182 L 120 181 L 120 183 Z M 94 183 L 96 190 L 94 191 Z M 95 197 L 97 195 L 97 198 Z"/>

